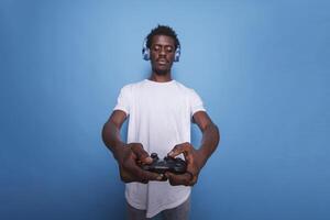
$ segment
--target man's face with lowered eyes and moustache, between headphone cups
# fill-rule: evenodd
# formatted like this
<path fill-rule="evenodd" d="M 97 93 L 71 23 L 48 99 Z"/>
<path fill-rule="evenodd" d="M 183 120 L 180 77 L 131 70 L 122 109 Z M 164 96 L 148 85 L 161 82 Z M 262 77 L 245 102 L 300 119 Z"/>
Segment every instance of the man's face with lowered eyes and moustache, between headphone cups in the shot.
<path fill-rule="evenodd" d="M 175 41 L 170 36 L 155 35 L 150 48 L 152 69 L 157 75 L 170 72 L 175 55 Z"/>

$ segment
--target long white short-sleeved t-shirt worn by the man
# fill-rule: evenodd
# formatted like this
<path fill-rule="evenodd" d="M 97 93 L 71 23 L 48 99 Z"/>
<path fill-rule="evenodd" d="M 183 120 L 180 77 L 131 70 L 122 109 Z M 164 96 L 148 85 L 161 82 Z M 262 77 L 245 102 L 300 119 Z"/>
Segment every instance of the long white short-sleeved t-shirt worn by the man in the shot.
<path fill-rule="evenodd" d="M 178 81 L 145 79 L 124 86 L 113 110 L 129 116 L 128 143 L 142 143 L 150 154 L 157 153 L 163 158 L 176 144 L 190 142 L 191 117 L 205 108 L 200 97 Z M 130 183 L 125 198 L 132 207 L 146 210 L 151 218 L 183 204 L 190 190 L 168 182 Z"/>

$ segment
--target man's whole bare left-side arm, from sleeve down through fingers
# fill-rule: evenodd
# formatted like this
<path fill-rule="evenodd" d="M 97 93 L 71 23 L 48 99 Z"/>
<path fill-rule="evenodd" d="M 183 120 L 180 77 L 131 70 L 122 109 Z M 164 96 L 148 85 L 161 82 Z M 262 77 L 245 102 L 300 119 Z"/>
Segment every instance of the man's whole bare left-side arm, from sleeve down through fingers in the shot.
<path fill-rule="evenodd" d="M 102 129 L 102 140 L 106 146 L 112 152 L 119 165 L 120 177 L 124 183 L 148 180 L 161 180 L 163 176 L 143 170 L 138 166 L 136 161 L 151 163 L 152 158 L 143 150 L 141 143 L 125 144 L 120 139 L 120 129 L 127 119 L 123 111 L 116 110 L 110 116 Z"/>

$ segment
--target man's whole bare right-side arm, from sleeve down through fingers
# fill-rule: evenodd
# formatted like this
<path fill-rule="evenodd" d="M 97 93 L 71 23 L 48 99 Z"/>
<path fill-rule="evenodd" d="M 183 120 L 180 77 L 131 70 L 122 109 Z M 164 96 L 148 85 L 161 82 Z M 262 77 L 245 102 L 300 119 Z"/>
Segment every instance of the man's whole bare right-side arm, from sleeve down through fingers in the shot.
<path fill-rule="evenodd" d="M 194 122 L 198 124 L 200 131 L 202 132 L 200 147 L 195 150 L 190 143 L 183 143 L 176 145 L 168 153 L 168 156 L 172 157 L 183 153 L 187 162 L 186 174 L 175 175 L 172 173 L 166 173 L 166 177 L 169 179 L 172 185 L 195 185 L 197 183 L 199 172 L 219 144 L 219 130 L 205 111 L 196 112 L 194 114 Z"/>

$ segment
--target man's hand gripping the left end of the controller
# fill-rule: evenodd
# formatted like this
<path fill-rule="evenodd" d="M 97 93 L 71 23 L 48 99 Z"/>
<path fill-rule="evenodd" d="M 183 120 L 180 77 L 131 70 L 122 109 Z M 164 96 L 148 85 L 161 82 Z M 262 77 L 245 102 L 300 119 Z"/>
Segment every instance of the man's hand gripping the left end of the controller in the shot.
<path fill-rule="evenodd" d="M 121 180 L 124 183 L 140 182 L 147 184 L 150 180 L 162 180 L 163 175 L 143 170 L 138 163 L 150 164 L 152 157 L 143 150 L 141 143 L 130 143 L 117 154 Z"/>

